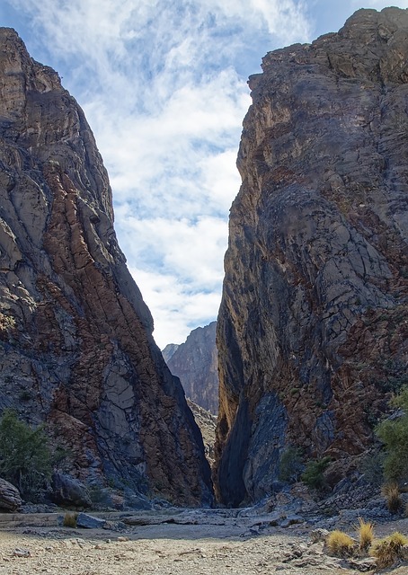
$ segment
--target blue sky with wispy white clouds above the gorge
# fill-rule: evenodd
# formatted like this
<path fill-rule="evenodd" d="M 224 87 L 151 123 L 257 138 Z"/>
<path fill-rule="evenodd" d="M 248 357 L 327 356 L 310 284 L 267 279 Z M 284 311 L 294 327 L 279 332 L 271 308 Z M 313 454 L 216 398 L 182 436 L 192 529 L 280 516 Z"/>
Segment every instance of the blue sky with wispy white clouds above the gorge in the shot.
<path fill-rule="evenodd" d="M 1 0 L 0 25 L 84 109 L 161 349 L 217 318 L 248 76 L 387 5 L 408 0 Z"/>

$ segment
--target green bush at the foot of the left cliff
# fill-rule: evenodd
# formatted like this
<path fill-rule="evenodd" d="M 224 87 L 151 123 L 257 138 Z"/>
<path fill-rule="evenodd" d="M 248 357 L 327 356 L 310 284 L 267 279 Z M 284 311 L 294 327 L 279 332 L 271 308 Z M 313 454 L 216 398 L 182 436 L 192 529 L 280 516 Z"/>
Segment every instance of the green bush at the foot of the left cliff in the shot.
<path fill-rule="evenodd" d="M 51 475 L 51 452 L 44 426 L 31 429 L 15 411 L 4 410 L 0 420 L 0 476 L 22 496 L 35 498 Z"/>

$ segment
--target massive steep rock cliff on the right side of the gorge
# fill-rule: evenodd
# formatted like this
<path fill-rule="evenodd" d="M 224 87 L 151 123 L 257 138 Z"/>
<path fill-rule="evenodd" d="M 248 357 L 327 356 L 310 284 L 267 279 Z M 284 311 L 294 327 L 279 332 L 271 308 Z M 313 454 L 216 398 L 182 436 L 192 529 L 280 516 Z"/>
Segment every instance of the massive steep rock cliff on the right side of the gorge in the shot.
<path fill-rule="evenodd" d="M 359 10 L 250 78 L 217 341 L 217 491 L 357 456 L 407 383 L 408 13 Z M 340 479 L 340 477 L 339 477 Z"/>

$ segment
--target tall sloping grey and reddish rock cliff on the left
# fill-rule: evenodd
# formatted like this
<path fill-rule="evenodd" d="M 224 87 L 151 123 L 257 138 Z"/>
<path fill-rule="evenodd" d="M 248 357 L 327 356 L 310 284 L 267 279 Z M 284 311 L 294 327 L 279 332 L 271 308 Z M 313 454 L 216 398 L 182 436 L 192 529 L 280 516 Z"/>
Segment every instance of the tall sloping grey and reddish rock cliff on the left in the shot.
<path fill-rule="evenodd" d="M 0 94 L 0 410 L 46 421 L 81 481 L 208 501 L 200 431 L 120 252 L 84 112 L 11 29 Z"/>

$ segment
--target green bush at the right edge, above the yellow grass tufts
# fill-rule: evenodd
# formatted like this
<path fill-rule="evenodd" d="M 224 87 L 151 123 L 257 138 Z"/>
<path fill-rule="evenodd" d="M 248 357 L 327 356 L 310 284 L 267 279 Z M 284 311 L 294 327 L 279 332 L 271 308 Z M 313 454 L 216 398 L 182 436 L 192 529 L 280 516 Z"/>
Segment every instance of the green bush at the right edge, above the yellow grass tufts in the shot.
<path fill-rule="evenodd" d="M 384 443 L 384 477 L 386 482 L 406 482 L 408 479 L 408 388 L 396 395 L 392 404 L 403 410 L 394 420 L 381 421 L 376 434 Z"/>

